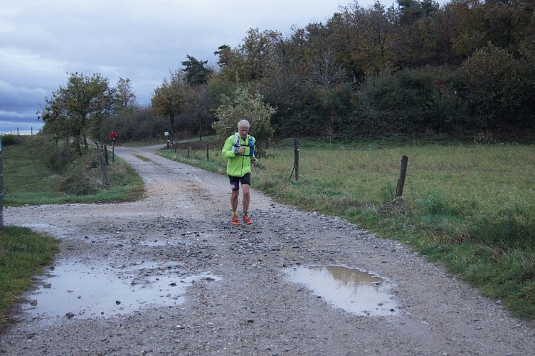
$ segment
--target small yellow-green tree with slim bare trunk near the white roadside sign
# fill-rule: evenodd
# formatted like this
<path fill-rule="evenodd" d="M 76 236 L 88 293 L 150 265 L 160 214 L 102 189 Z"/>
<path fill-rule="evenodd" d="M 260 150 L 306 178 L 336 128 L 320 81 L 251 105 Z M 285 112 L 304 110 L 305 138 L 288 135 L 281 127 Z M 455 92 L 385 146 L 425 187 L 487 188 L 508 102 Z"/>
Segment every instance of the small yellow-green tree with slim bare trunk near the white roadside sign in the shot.
<path fill-rule="evenodd" d="M 179 70 L 171 72 L 171 79 L 164 78 L 161 86 L 154 89 L 151 98 L 152 112 L 169 118 L 169 140 L 174 140 L 174 118 L 186 109 L 184 75 Z"/>

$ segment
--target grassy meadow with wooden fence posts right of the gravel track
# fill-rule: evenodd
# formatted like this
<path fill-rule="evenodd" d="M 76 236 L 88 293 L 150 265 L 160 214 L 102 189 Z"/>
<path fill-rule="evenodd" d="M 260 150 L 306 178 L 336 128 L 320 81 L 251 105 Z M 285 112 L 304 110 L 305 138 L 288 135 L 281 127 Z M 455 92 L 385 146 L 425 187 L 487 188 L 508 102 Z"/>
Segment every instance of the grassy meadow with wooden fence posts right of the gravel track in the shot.
<path fill-rule="evenodd" d="M 208 159 L 203 147 L 189 157 L 183 149 L 160 154 L 224 175 L 221 146 L 211 145 Z M 534 145 L 300 140 L 298 181 L 293 140 L 267 155 L 253 169 L 253 188 L 410 244 L 515 316 L 535 319 Z M 378 214 L 395 198 L 403 155 L 405 214 Z"/>

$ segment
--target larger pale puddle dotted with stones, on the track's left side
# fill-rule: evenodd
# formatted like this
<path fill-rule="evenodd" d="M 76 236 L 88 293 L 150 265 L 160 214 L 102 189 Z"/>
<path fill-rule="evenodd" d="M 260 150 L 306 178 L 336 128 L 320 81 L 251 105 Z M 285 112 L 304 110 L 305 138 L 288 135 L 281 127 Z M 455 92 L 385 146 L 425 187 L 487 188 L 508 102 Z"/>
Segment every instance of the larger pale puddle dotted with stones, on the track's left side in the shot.
<path fill-rule="evenodd" d="M 180 265 L 152 261 L 125 266 L 60 263 L 27 295 L 23 310 L 43 323 L 58 318 L 109 318 L 184 302 L 186 288 L 197 281 L 220 281 L 211 273 L 188 276 Z"/>

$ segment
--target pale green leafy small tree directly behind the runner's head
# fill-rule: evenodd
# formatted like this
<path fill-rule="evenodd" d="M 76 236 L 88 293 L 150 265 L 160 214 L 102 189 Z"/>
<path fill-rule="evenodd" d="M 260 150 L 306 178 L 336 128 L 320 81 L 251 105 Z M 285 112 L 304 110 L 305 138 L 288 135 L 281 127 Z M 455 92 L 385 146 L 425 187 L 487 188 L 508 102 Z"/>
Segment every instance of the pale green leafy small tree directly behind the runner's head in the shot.
<path fill-rule="evenodd" d="M 212 123 L 220 137 L 225 139 L 236 132 L 236 124 L 245 119 L 250 123 L 250 133 L 258 140 L 258 156 L 265 154 L 273 137 L 271 117 L 275 109 L 263 102 L 263 96 L 257 91 L 249 92 L 248 86 L 241 86 L 235 91 L 235 98 L 223 95 L 223 103 L 217 108 L 218 120 Z"/>

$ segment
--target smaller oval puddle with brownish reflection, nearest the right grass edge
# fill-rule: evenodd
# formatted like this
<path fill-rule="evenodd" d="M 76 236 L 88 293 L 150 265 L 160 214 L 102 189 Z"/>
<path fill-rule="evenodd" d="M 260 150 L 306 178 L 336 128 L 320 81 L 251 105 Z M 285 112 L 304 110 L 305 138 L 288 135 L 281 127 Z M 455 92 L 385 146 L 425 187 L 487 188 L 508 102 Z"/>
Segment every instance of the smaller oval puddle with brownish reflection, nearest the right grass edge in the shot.
<path fill-rule="evenodd" d="M 356 315 L 396 315 L 391 283 L 374 274 L 343 266 L 287 268 L 288 279 L 304 284 L 335 308 Z"/>

